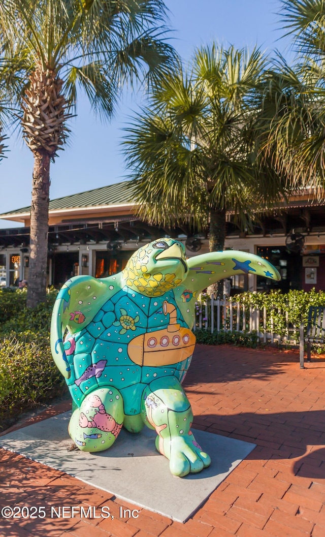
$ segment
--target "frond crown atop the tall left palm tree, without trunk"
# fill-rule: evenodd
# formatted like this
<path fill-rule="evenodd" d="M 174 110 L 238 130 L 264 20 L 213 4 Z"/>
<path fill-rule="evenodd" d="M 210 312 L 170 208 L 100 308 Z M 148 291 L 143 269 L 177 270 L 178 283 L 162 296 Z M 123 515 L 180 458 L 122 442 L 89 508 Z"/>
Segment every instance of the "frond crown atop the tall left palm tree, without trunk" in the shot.
<path fill-rule="evenodd" d="M 11 61 L 6 78 L 12 71 L 13 88 L 18 94 L 20 85 L 23 94 L 33 70 L 48 69 L 63 78 L 69 110 L 76 83 L 100 117 L 110 119 L 122 84 L 153 84 L 174 66 L 166 17 L 162 0 L 4 0 L 0 33 L 3 56 Z"/>

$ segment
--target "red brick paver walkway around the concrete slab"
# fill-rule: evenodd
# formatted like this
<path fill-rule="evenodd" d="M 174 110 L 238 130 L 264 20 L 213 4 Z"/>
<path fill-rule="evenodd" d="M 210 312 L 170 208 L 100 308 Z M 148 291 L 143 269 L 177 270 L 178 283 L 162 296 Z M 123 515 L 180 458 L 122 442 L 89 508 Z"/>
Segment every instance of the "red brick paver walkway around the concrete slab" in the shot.
<path fill-rule="evenodd" d="M 121 518 L 120 506 L 135 506 L 0 449 L 1 506 L 108 506 L 114 516 L 0 519 L 1 537 L 324 537 L 325 362 L 301 370 L 293 353 L 198 345 L 185 389 L 194 427 L 257 444 L 190 520 L 140 508 Z"/>

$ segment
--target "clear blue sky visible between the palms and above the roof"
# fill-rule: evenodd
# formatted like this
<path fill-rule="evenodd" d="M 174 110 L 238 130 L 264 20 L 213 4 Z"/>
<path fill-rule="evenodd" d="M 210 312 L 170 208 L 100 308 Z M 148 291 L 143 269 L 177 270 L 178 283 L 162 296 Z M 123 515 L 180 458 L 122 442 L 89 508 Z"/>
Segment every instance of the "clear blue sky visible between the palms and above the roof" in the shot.
<path fill-rule="evenodd" d="M 236 47 L 255 45 L 270 54 L 278 48 L 290 57 L 288 40 L 280 22 L 280 0 L 165 0 L 170 10 L 171 42 L 185 61 L 194 48 L 216 41 Z M 113 183 L 127 176 L 120 142 L 141 93 L 126 93 L 110 124 L 96 119 L 84 98 L 77 117 L 71 121 L 69 146 L 52 164 L 50 198 L 83 192 Z M 0 163 L 0 213 L 30 205 L 33 158 L 21 137 L 12 134 L 8 158 Z M 13 227 L 0 221 L 0 227 Z"/>

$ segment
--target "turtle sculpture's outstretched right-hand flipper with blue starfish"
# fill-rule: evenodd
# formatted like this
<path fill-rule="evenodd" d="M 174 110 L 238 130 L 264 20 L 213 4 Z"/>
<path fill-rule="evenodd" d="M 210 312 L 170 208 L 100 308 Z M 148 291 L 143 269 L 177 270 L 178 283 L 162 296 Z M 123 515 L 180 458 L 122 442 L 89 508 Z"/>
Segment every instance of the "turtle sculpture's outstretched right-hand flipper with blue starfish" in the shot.
<path fill-rule="evenodd" d="M 182 286 L 189 292 L 199 293 L 209 285 L 234 274 L 256 274 L 279 281 L 277 269 L 262 257 L 236 250 L 204 253 L 187 259 L 189 273 Z"/>

